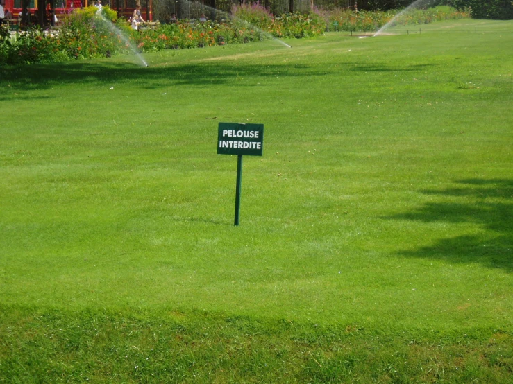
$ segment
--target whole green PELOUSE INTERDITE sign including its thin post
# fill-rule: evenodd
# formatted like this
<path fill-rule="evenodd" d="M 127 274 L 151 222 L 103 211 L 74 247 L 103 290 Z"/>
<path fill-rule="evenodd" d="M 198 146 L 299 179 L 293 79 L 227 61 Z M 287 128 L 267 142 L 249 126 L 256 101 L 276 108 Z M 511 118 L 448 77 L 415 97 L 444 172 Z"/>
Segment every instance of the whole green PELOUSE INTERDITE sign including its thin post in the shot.
<path fill-rule="evenodd" d="M 237 184 L 235 186 L 235 220 L 239 225 L 240 195 L 242 191 L 242 156 L 262 156 L 264 149 L 264 125 L 219 123 L 217 154 L 237 155 Z"/>

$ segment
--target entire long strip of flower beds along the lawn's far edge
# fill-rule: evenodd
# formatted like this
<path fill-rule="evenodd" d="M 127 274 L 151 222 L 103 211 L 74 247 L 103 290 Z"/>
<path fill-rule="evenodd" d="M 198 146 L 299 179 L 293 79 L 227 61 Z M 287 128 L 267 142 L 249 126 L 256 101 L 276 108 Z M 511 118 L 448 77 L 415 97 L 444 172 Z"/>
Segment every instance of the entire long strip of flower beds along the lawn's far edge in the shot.
<path fill-rule="evenodd" d="M 387 24 L 396 12 L 310 12 L 273 17 L 258 5 L 234 6 L 233 19 L 226 23 L 188 20 L 166 24 L 155 29 L 133 30 L 114 11 L 103 7 L 76 10 L 67 17 L 56 35 L 41 30 L 28 30 L 12 37 L 0 27 L 0 63 L 30 64 L 67 60 L 105 58 L 131 51 L 201 48 L 267 40 L 274 37 L 313 37 L 325 30 L 374 31 Z M 432 21 L 470 17 L 450 7 L 407 12 L 397 24 L 426 24 Z"/>

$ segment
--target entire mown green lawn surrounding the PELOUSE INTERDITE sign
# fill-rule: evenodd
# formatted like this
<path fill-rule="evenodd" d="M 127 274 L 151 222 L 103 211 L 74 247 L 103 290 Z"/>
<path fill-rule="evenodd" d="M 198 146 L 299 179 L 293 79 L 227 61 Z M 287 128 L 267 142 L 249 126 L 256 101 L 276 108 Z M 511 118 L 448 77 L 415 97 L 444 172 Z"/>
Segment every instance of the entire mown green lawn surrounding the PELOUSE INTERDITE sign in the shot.
<path fill-rule="evenodd" d="M 1 68 L 0 382 L 513 383 L 513 22 L 426 28 Z"/>

